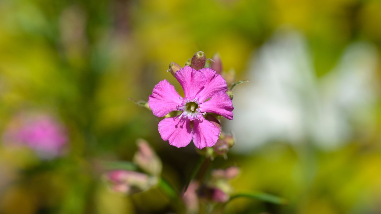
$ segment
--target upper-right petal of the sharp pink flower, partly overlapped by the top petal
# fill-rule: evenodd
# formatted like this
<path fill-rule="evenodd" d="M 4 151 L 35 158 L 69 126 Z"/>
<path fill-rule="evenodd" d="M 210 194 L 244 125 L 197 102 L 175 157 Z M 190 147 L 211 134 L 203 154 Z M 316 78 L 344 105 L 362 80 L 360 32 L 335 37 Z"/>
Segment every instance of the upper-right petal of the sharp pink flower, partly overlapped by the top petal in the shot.
<path fill-rule="evenodd" d="M 216 73 L 215 70 L 210 68 L 203 68 L 200 69 L 200 72 L 202 72 L 207 79 L 207 82 L 204 85 L 204 89 L 199 93 L 199 100 L 201 103 L 213 96 L 213 94 L 219 91 L 225 92 L 227 90 L 225 79 Z"/>

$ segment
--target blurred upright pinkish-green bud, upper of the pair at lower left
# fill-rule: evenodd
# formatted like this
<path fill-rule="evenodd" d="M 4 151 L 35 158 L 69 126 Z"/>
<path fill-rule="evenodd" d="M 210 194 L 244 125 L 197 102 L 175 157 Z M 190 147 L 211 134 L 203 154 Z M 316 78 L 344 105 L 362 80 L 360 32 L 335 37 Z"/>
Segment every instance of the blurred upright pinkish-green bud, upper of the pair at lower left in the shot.
<path fill-rule="evenodd" d="M 139 150 L 135 153 L 133 161 L 144 172 L 157 176 L 162 172 L 162 162 L 156 153 L 148 145 L 147 141 L 138 139 L 136 141 Z"/>

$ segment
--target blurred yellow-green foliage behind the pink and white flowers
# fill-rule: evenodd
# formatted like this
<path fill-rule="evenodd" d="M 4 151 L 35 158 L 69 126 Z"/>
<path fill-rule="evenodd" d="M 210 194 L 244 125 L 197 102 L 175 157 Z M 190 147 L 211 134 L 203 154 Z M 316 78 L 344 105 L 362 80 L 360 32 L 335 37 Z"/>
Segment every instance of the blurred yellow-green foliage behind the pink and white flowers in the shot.
<path fill-rule="evenodd" d="M 99 179 L 104 171 L 96 162 L 131 160 L 137 138 L 156 148 L 164 177 L 178 189 L 197 160 L 192 146 L 163 142 L 158 118 L 129 97 L 147 100 L 164 78 L 179 88 L 165 72 L 168 64 L 183 65 L 199 50 L 208 57 L 219 52 L 224 68 L 244 78 L 250 56 L 283 25 L 306 35 L 321 76 L 351 42 L 380 49 L 380 10 L 378 0 L 0 1 L 0 129 L 20 111 L 46 111 L 61 118 L 70 138 L 67 154 L 51 161 L 0 148 L 0 212 L 169 211 L 155 189 L 126 198 Z M 216 160 L 215 166 L 242 167 L 236 190 L 290 201 L 237 199 L 226 213 L 381 212 L 380 125 L 332 152 L 274 142 Z"/>

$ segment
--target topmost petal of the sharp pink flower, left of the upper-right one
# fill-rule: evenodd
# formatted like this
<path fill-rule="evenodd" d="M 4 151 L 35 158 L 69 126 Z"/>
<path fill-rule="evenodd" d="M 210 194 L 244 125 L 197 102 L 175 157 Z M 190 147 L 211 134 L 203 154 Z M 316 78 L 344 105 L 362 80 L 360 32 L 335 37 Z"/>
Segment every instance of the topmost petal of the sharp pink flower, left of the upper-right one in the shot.
<path fill-rule="evenodd" d="M 195 97 L 207 82 L 202 72 L 189 66 L 178 70 L 175 77 L 184 89 L 184 96 L 188 98 Z"/>

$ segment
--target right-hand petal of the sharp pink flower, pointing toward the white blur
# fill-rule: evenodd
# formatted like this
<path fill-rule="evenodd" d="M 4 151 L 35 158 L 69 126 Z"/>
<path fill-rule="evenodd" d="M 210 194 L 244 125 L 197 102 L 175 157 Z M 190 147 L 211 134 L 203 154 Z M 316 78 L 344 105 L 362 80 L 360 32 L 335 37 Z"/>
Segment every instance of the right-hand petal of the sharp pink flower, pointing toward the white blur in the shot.
<path fill-rule="evenodd" d="M 210 100 L 200 105 L 200 112 L 211 112 L 222 115 L 229 120 L 233 120 L 233 102 L 229 95 L 219 91 Z"/>

